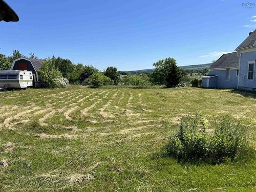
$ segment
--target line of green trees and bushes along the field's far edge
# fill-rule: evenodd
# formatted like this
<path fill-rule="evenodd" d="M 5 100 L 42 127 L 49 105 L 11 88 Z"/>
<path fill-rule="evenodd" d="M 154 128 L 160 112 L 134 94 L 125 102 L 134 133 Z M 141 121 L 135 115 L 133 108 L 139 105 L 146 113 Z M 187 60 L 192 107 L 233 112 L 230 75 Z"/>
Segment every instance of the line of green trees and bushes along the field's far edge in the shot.
<path fill-rule="evenodd" d="M 12 61 L 19 57 L 25 56 L 18 50 L 14 50 L 11 56 L 0 54 L 0 70 L 10 69 Z M 29 58 L 38 59 L 34 53 L 31 53 Z M 92 65 L 74 64 L 70 59 L 55 56 L 41 60 L 44 60 L 44 64 L 40 67 L 38 74 L 39 81 L 45 88 L 66 87 L 67 83 L 59 86 L 59 82 L 62 81 L 94 88 L 118 84 L 124 86 L 156 84 L 173 88 L 177 87 L 181 78 L 186 75 L 184 70 L 177 66 L 176 60 L 170 57 L 153 63 L 156 70 L 143 75 L 122 75 L 116 67 L 112 66 L 101 72 Z"/>

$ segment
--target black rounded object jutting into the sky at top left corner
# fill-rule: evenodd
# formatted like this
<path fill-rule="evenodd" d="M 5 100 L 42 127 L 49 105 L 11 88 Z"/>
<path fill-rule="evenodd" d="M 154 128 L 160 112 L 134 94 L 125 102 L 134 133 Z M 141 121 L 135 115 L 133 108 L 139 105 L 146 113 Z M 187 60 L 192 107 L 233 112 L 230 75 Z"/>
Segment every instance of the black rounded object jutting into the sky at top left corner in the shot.
<path fill-rule="evenodd" d="M 0 22 L 2 20 L 5 22 L 17 22 L 19 18 L 15 11 L 13 11 L 5 1 L 0 0 Z"/>

